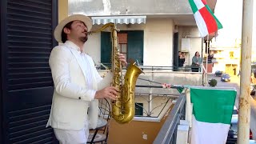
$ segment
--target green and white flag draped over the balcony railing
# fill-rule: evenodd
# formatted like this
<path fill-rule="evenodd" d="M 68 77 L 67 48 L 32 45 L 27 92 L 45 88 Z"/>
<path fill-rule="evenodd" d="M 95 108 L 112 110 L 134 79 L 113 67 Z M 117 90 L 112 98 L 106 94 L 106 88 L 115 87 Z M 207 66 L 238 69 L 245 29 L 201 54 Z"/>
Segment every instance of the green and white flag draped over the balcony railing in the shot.
<path fill-rule="evenodd" d="M 193 103 L 190 144 L 225 144 L 236 90 L 190 88 Z"/>

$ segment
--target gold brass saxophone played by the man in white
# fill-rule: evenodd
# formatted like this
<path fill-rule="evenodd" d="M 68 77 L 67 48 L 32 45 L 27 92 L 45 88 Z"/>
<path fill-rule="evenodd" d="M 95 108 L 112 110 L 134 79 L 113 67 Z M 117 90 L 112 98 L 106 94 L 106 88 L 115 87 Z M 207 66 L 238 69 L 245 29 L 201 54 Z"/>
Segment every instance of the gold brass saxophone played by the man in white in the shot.
<path fill-rule="evenodd" d="M 112 38 L 112 73 L 113 80 L 112 86 L 118 89 L 118 99 L 111 102 L 112 110 L 111 116 L 118 123 L 127 123 L 134 118 L 135 114 L 135 103 L 134 103 L 134 90 L 135 84 L 138 79 L 138 75 L 142 74 L 143 71 L 135 65 L 135 62 L 130 64 L 126 70 L 124 82 L 122 81 L 122 65 L 119 61 L 118 54 L 118 29 L 114 23 L 107 23 L 102 26 L 99 30 L 92 31 L 90 33 L 97 33 L 110 27 L 111 38 Z"/>

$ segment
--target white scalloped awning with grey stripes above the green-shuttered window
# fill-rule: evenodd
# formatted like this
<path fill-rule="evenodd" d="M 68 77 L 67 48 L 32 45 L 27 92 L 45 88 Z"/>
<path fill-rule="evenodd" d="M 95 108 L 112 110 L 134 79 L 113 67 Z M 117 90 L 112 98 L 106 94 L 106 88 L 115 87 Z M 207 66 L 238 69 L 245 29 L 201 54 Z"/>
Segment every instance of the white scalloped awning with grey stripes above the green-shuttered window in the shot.
<path fill-rule="evenodd" d="M 114 17 L 92 17 L 93 25 L 101 25 L 109 22 L 115 24 L 146 23 L 146 16 L 114 16 Z"/>

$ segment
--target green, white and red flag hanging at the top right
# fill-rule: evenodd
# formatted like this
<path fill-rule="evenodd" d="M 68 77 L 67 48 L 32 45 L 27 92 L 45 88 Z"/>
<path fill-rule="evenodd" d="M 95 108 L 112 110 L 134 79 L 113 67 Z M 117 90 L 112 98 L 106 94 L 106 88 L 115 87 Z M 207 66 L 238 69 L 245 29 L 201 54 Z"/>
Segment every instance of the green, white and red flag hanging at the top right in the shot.
<path fill-rule="evenodd" d="M 189 0 L 189 2 L 202 37 L 222 29 L 221 22 L 214 16 L 206 0 Z"/>

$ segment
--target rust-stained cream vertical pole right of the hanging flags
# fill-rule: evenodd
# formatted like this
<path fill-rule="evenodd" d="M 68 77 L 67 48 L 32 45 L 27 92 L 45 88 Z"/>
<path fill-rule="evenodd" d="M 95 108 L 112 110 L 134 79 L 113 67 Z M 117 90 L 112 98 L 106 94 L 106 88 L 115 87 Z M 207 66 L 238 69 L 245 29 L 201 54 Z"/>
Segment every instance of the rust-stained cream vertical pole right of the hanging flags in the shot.
<path fill-rule="evenodd" d="M 250 62 L 252 51 L 253 6 L 254 0 L 243 0 L 238 144 L 249 143 L 250 137 Z"/>

